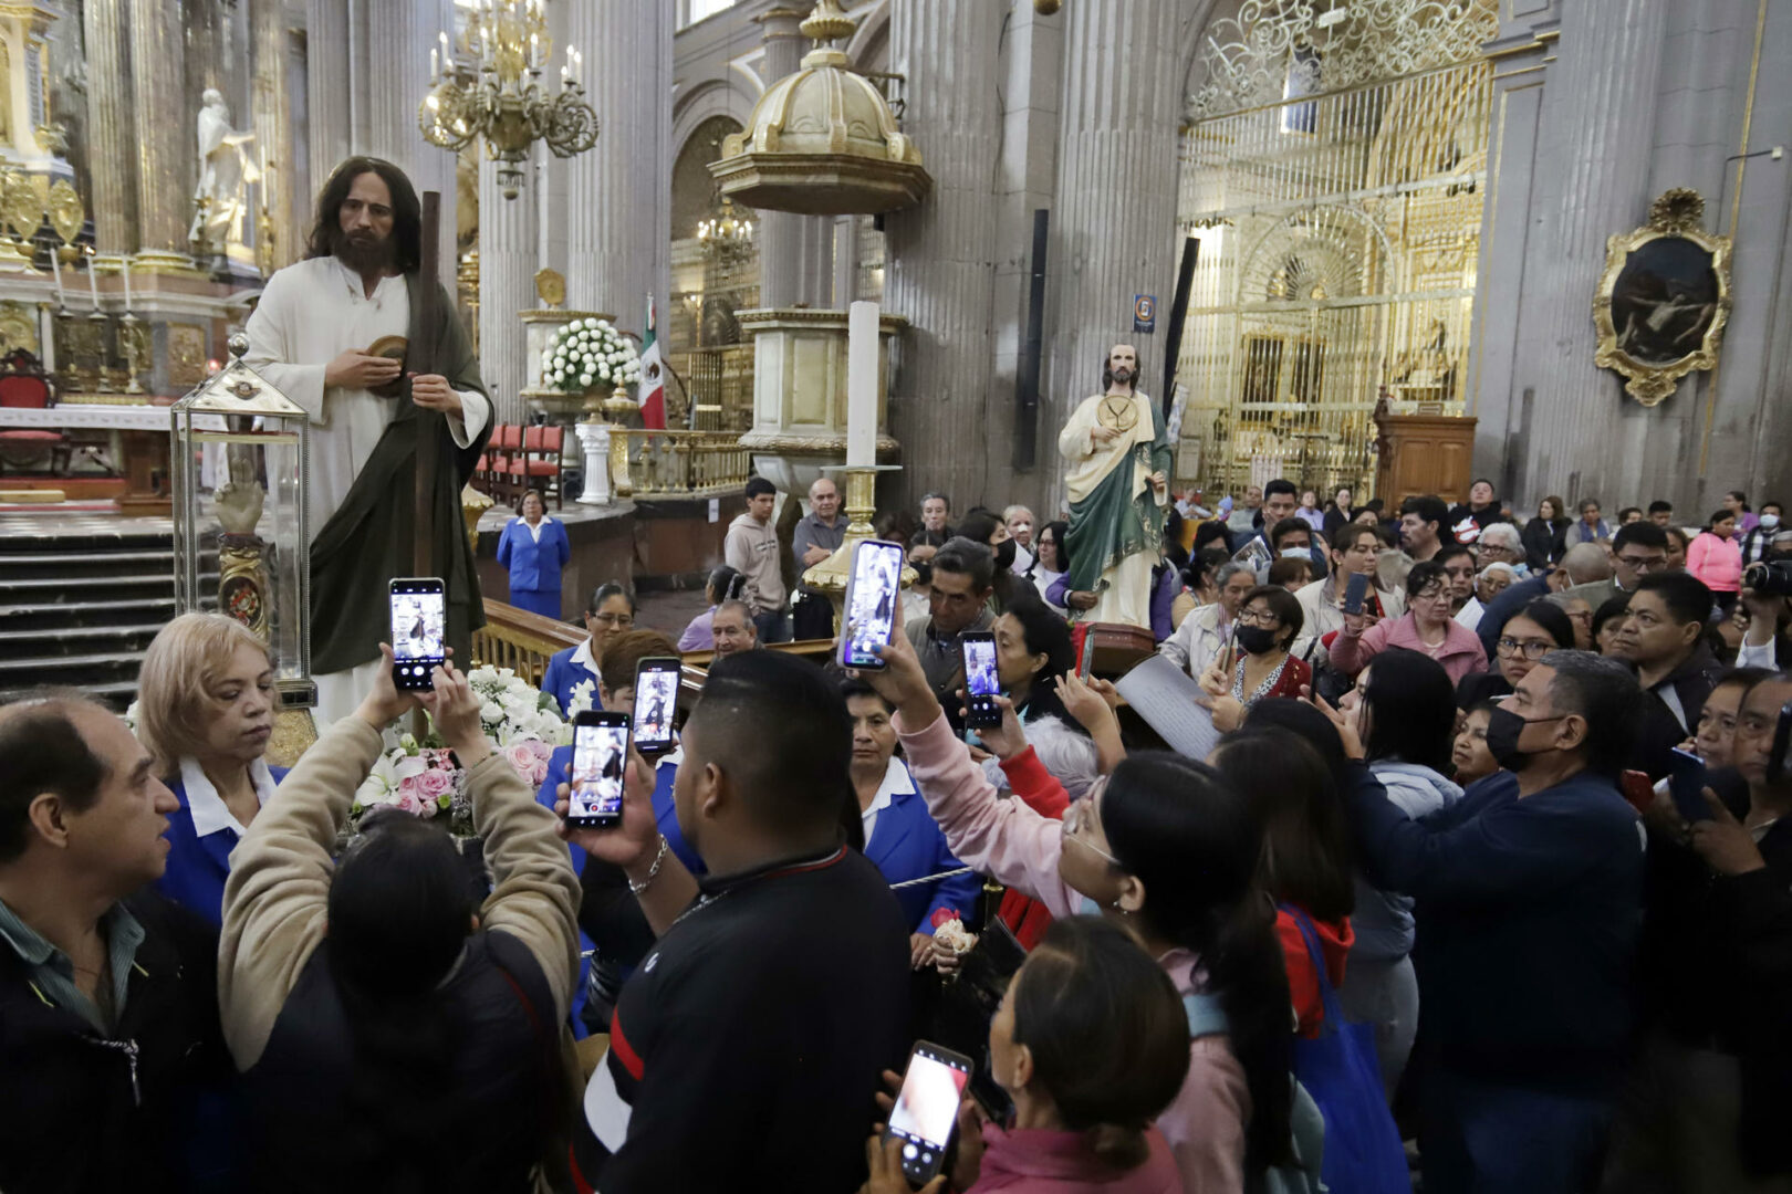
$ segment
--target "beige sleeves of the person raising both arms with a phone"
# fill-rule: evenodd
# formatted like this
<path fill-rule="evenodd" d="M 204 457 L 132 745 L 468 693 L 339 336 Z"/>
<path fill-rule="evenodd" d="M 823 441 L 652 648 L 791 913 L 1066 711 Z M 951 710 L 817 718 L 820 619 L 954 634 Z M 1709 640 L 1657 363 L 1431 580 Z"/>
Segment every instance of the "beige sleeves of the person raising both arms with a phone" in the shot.
<path fill-rule="evenodd" d="M 240 1070 L 262 1058 L 287 995 L 324 940 L 335 870 L 330 850 L 380 750 L 380 734 L 358 716 L 337 721 L 287 773 L 231 850 L 219 940 L 219 1015 Z M 468 791 L 493 872 L 480 924 L 529 947 L 554 992 L 554 1020 L 561 1022 L 579 974 L 579 875 L 566 843 L 554 834 L 554 814 L 536 804 L 504 755 L 482 759 L 468 773 Z"/>

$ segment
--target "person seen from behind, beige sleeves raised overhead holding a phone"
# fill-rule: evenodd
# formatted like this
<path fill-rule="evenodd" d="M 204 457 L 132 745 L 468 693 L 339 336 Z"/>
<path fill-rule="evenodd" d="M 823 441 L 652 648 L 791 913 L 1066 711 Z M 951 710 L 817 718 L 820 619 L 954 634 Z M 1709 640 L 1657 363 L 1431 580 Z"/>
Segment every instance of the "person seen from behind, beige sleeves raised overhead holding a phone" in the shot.
<path fill-rule="evenodd" d="M 466 677 L 439 668 L 430 693 L 400 695 L 382 653 L 360 709 L 249 825 L 224 888 L 219 1010 L 254 1133 L 247 1189 L 521 1194 L 566 1110 L 579 877 Z M 482 906 L 448 834 L 405 811 L 369 814 L 332 865 L 380 729 L 419 704 L 468 768 L 495 881 Z"/>

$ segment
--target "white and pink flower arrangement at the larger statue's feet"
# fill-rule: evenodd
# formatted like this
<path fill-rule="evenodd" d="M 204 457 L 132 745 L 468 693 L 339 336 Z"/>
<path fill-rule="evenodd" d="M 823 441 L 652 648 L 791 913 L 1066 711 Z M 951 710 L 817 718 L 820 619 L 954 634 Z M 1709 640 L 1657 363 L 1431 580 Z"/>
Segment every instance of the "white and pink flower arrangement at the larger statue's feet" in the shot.
<path fill-rule="evenodd" d="M 572 727 L 561 720 L 554 696 L 536 691 L 509 668 L 473 668 L 466 678 L 480 698 L 478 720 L 493 750 L 525 784 L 539 788 L 548 777 L 554 746 L 572 741 Z M 455 764 L 434 725 L 423 741 L 389 727 L 385 745 L 355 789 L 349 822 L 358 823 L 373 807 L 396 806 L 414 816 L 448 814 L 450 832 L 473 836 L 466 772 Z"/>

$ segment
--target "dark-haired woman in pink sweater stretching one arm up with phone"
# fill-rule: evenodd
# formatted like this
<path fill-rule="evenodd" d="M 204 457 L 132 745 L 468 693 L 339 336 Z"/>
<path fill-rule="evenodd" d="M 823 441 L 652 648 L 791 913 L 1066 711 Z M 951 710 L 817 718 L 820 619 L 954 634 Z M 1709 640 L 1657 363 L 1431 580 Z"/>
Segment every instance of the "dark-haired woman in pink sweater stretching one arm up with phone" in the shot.
<path fill-rule="evenodd" d="M 1133 927 L 1202 1015 L 1188 1078 L 1158 1128 L 1185 1189 L 1238 1190 L 1290 1160 L 1288 986 L 1254 883 L 1262 829 L 1251 800 L 1211 768 L 1133 754 L 1063 822 L 996 789 L 952 734 L 914 648 L 882 648 L 866 678 L 896 704 L 896 729 L 928 811 L 968 866 L 1039 899 L 1052 917 L 1100 911 Z M 1018 721 L 1005 725 L 1018 732 Z"/>

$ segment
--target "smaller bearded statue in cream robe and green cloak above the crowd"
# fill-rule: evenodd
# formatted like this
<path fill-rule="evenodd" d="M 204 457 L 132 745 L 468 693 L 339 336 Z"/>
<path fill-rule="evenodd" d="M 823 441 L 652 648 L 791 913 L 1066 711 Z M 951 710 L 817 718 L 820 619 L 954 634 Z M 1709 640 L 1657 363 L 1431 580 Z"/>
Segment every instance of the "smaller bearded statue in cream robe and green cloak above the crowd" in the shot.
<path fill-rule="evenodd" d="M 1133 388 L 1136 378 L 1138 351 L 1113 345 L 1102 367 L 1107 392 L 1082 399 L 1057 435 L 1057 451 L 1070 496 L 1073 618 L 1149 630 L 1172 458 L 1163 415 Z M 1081 594 L 1093 594 L 1093 605 Z"/>

